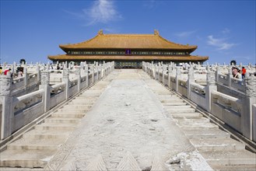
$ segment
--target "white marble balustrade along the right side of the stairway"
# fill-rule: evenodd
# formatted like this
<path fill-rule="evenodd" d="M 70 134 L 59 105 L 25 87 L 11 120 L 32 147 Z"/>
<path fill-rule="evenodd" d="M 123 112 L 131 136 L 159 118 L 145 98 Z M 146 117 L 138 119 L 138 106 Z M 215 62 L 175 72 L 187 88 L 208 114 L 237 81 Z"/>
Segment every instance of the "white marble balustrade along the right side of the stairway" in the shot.
<path fill-rule="evenodd" d="M 256 67 L 246 66 L 245 79 L 233 78 L 231 68 L 226 65 L 190 65 L 189 69 L 184 69 L 174 63 L 168 66 L 142 64 L 142 69 L 153 79 L 223 120 L 244 137 L 256 141 Z"/>

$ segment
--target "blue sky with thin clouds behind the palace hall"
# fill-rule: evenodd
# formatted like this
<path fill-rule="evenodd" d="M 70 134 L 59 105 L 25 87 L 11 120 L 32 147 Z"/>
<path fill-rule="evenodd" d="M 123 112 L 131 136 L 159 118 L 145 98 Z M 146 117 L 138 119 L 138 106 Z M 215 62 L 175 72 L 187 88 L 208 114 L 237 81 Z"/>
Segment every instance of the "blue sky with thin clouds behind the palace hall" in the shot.
<path fill-rule="evenodd" d="M 1 63 L 47 62 L 75 44 L 103 33 L 152 33 L 178 44 L 198 45 L 192 55 L 209 64 L 256 63 L 255 0 L 82 1 L 1 0 Z"/>

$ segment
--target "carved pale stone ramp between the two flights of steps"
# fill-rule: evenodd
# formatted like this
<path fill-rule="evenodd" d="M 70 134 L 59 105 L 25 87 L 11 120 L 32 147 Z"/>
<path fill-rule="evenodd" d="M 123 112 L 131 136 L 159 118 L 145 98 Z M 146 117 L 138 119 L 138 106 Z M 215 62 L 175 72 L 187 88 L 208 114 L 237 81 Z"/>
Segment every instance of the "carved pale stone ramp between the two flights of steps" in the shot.
<path fill-rule="evenodd" d="M 120 74 L 83 118 L 73 141 L 68 158 L 75 157 L 78 170 L 97 155 L 111 170 L 131 152 L 140 168 L 147 169 L 156 155 L 165 162 L 177 153 L 194 149 L 174 120 L 166 116 L 142 70 L 115 72 Z"/>

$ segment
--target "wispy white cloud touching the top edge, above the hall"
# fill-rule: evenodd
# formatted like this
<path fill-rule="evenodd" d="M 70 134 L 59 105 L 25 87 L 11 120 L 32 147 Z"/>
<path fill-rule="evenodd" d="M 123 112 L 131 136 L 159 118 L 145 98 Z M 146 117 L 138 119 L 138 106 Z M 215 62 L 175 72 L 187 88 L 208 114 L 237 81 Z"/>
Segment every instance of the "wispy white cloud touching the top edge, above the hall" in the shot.
<path fill-rule="evenodd" d="M 68 12 L 68 11 L 65 11 Z M 121 19 L 121 15 L 117 12 L 114 2 L 110 0 L 97 0 L 89 9 L 82 9 L 82 13 L 68 12 L 79 19 L 87 21 L 86 26 L 96 23 L 108 23 L 117 19 Z"/>

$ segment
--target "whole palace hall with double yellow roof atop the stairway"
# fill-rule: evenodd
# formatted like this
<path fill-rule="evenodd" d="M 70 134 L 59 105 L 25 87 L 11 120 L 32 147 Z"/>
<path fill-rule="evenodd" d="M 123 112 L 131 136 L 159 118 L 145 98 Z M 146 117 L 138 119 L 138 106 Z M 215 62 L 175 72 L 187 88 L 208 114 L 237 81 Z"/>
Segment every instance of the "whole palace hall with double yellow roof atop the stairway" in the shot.
<path fill-rule="evenodd" d="M 114 61 L 115 68 L 142 68 L 142 61 L 163 64 L 181 62 L 204 62 L 209 57 L 191 55 L 198 46 L 176 44 L 153 34 L 105 34 L 100 30 L 96 37 L 77 44 L 61 44 L 66 54 L 50 55 L 54 63 L 62 61 Z"/>

